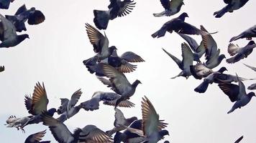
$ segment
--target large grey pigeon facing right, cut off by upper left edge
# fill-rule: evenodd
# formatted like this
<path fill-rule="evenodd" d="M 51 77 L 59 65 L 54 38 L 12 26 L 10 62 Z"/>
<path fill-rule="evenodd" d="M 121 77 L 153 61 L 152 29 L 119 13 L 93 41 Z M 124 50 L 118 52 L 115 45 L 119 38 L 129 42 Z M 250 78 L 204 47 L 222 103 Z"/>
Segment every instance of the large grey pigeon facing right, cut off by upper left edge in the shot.
<path fill-rule="evenodd" d="M 17 46 L 24 39 L 29 38 L 28 34 L 17 35 L 16 28 L 11 21 L 6 19 L 0 14 L 0 48 L 9 48 L 11 46 Z"/>

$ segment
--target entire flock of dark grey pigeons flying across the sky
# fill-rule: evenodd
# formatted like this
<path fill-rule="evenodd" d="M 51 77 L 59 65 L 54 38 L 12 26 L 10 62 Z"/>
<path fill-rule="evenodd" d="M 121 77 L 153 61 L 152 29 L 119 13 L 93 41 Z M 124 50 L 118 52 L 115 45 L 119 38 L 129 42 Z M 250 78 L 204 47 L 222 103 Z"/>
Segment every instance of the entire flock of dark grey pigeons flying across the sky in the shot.
<path fill-rule="evenodd" d="M 249 0 L 224 0 L 227 4 L 223 9 L 214 12 L 216 18 L 220 18 L 227 12 L 240 9 Z M 0 9 L 9 9 L 9 4 L 12 0 L 0 0 Z M 160 16 L 173 16 L 177 14 L 181 7 L 184 5 L 183 0 L 160 0 L 164 7 L 164 11 L 153 14 L 155 17 Z M 107 29 L 109 20 L 116 19 L 117 17 L 126 16 L 134 9 L 135 2 L 131 0 L 110 0 L 108 10 L 94 10 L 94 24 L 86 23 L 86 32 L 88 39 L 93 46 L 95 55 L 83 61 L 88 71 L 91 74 L 96 74 L 100 82 L 112 89 L 114 92 L 94 92 L 91 99 L 86 102 L 78 104 L 81 97 L 81 89 L 78 89 L 72 94 L 70 99 L 60 99 L 60 107 L 49 108 L 47 92 L 45 84 L 38 82 L 35 85 L 34 92 L 31 95 L 25 95 L 24 104 L 27 108 L 29 116 L 15 117 L 10 116 L 6 120 L 6 127 L 14 127 L 23 132 L 24 127 L 29 124 L 39 124 L 42 122 L 45 126 L 49 127 L 50 132 L 57 142 L 62 143 L 76 143 L 76 142 L 94 142 L 94 143 L 108 143 L 108 142 L 129 142 L 129 143 L 156 143 L 160 139 L 164 139 L 168 135 L 167 123 L 159 119 L 159 115 L 155 111 L 152 103 L 147 97 L 142 97 L 142 119 L 137 117 L 125 118 L 124 114 L 117 107 L 134 107 L 134 104 L 129 101 L 135 93 L 138 84 L 142 84 L 140 80 L 129 82 L 126 73 L 132 72 L 137 68 L 134 62 L 143 62 L 141 56 L 132 51 L 124 52 L 121 56 L 116 53 L 116 46 L 109 46 L 109 39 L 105 32 L 104 34 L 98 29 Z M 183 59 L 180 60 L 170 54 L 168 51 L 163 51 L 170 56 L 180 68 L 180 73 L 173 77 L 188 77 L 193 76 L 195 79 L 204 79 L 203 82 L 196 87 L 195 92 L 206 92 L 209 84 L 216 83 L 219 88 L 227 94 L 231 102 L 235 102 L 232 109 L 228 114 L 234 112 L 235 109 L 244 107 L 250 102 L 252 97 L 255 97 L 254 92 L 246 93 L 246 88 L 242 81 L 253 80 L 237 75 L 224 74 L 227 69 L 223 66 L 218 71 L 213 69 L 221 64 L 221 61 L 226 58 L 224 54 L 220 54 L 216 41 L 211 36 L 216 32 L 210 33 L 204 26 L 200 29 L 191 24 L 186 23 L 185 19 L 188 17 L 187 13 L 180 14 L 177 18 L 167 21 L 163 26 L 152 34 L 153 38 L 160 38 L 165 36 L 166 31 L 179 34 L 186 42 L 181 44 L 181 52 Z M 41 11 L 36 10 L 34 7 L 27 9 L 25 5 L 21 6 L 14 16 L 2 16 L 0 14 L 0 47 L 17 46 L 24 39 L 29 38 L 27 34 L 17 35 L 17 32 L 26 31 L 25 22 L 28 24 L 40 24 L 45 20 L 45 16 Z M 193 39 L 191 34 L 201 35 L 202 40 L 200 44 Z M 252 37 L 256 37 L 256 25 L 250 29 L 243 31 L 238 36 L 230 39 L 230 42 L 237 39 L 248 39 L 249 43 L 243 47 L 230 43 L 228 46 L 228 53 L 231 58 L 227 59 L 227 63 L 234 64 L 244 58 L 247 58 L 256 47 L 255 41 Z M 205 61 L 201 61 L 201 57 L 205 55 Z M 194 61 L 196 64 L 193 64 Z M 249 66 L 250 69 L 256 71 L 256 68 Z M 0 66 L 0 71 L 4 71 L 4 66 Z M 238 82 L 233 84 L 233 82 Z M 256 84 L 252 84 L 247 89 L 256 89 Z M 104 132 L 95 125 L 86 125 L 83 128 L 77 128 L 73 133 L 65 126 L 65 121 L 76 115 L 80 109 L 86 111 L 93 111 L 99 109 L 99 102 L 114 107 L 115 120 L 113 129 Z M 58 114 L 58 118 L 53 117 Z M 31 134 L 25 140 L 29 142 L 40 142 L 44 137 L 46 130 Z M 242 140 L 243 137 L 237 139 L 235 143 Z M 45 141 L 50 142 L 50 141 Z M 168 141 L 165 141 L 168 143 Z"/>

